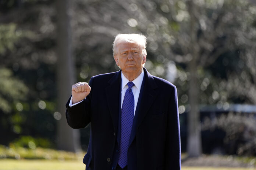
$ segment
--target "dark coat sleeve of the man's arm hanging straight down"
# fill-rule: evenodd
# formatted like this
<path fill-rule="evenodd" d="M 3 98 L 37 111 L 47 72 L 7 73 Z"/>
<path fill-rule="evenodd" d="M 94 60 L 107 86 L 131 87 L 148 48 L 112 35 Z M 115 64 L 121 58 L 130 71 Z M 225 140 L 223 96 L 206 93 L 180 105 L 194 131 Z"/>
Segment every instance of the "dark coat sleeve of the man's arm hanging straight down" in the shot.
<path fill-rule="evenodd" d="M 174 86 L 168 106 L 166 170 L 181 170 L 181 143 L 177 89 Z"/>

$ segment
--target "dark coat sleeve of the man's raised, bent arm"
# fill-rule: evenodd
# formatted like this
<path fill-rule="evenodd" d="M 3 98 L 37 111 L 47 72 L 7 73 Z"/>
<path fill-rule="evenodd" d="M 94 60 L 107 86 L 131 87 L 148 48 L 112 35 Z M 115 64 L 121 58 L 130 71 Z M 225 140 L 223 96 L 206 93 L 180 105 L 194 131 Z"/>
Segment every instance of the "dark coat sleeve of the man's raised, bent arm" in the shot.
<path fill-rule="evenodd" d="M 71 97 L 66 104 L 66 118 L 68 125 L 74 129 L 83 128 L 90 123 L 91 118 L 91 99 L 93 91 L 93 77 L 89 82 L 89 86 L 92 88 L 90 94 L 86 96 L 86 99 L 75 106 L 68 106 Z"/>

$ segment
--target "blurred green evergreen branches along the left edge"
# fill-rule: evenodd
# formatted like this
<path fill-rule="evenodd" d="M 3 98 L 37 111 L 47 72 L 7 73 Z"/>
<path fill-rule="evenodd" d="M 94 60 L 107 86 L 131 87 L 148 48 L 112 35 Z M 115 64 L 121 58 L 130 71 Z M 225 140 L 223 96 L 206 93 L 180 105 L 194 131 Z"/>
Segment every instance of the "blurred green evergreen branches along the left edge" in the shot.
<path fill-rule="evenodd" d="M 15 34 L 15 24 L 0 25 L 0 56 L 15 48 L 15 43 L 20 36 Z M 5 58 L 0 57 L 1 61 Z M 24 118 L 15 114 L 15 110 L 23 110 L 22 102 L 28 95 L 28 88 L 22 80 L 14 75 L 13 70 L 0 65 L 0 117 L 1 136 L 6 136 L 2 143 L 10 140 L 14 135 L 6 135 L 10 131 L 21 132 Z"/>

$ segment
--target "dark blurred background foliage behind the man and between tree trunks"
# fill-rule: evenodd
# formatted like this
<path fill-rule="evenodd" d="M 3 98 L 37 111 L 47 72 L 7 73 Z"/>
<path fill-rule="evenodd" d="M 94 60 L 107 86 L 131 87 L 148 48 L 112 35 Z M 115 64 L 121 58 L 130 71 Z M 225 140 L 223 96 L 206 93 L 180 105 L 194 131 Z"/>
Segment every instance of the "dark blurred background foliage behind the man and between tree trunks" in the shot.
<path fill-rule="evenodd" d="M 53 0 L 0 1 L 0 135 L 4 136 L 0 144 L 56 147 L 56 122 L 61 115 L 56 107 L 54 5 Z M 191 108 L 192 60 L 196 60 L 199 104 L 224 110 L 232 103 L 256 104 L 255 5 L 195 0 L 191 7 L 188 0 L 72 1 L 68 14 L 77 80 L 88 82 L 93 75 L 117 71 L 111 47 L 114 36 L 143 33 L 147 37 L 145 67 L 177 86 L 181 114 Z M 240 131 L 243 136 L 250 134 L 227 154 L 256 154 L 252 121 L 255 117 L 238 115 L 217 119 L 214 127 L 226 133 L 224 140 L 229 144 L 237 141 Z M 230 132 L 234 125 L 237 129 Z M 89 129 L 81 132 L 86 149 Z"/>

